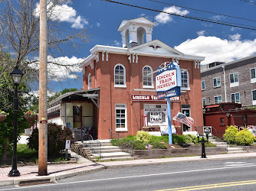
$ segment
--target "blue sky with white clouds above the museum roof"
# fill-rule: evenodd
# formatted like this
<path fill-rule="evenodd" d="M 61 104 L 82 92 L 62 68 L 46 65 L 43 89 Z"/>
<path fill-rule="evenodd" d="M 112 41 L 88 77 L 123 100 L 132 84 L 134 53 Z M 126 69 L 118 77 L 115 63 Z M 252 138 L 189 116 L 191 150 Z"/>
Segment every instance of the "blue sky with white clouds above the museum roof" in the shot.
<path fill-rule="evenodd" d="M 243 26 L 246 25 L 247 28 L 256 29 L 255 0 L 251 1 L 252 3 L 244 0 L 158 0 L 172 5 L 149 0 L 113 1 L 180 15 L 229 22 L 233 25 L 244 24 Z M 221 15 L 195 11 L 191 8 Z M 156 26 L 153 28 L 153 40 L 159 39 L 182 53 L 204 56 L 205 61 L 202 64 L 214 61 L 230 62 L 256 53 L 255 30 L 196 21 L 100 0 L 70 0 L 67 5 L 62 5 L 57 11 L 62 12 L 58 20 L 66 30 L 75 31 L 80 28 L 87 28 L 87 32 L 90 34 L 90 42 L 81 44 L 79 53 L 58 55 L 59 57 L 66 57 L 71 62 L 89 56 L 90 49 L 96 44 L 121 47 L 121 35 L 117 31 L 121 21 L 139 17 L 145 17 L 156 22 Z M 224 15 L 254 21 L 230 18 Z M 78 73 L 81 76 L 81 73 Z M 71 79 L 71 82 L 74 82 L 74 79 Z M 71 87 L 82 88 L 81 81 L 80 83 L 74 82 L 71 84 L 72 86 L 64 83 L 64 86 L 58 86 L 56 90 Z"/>

